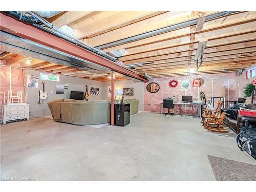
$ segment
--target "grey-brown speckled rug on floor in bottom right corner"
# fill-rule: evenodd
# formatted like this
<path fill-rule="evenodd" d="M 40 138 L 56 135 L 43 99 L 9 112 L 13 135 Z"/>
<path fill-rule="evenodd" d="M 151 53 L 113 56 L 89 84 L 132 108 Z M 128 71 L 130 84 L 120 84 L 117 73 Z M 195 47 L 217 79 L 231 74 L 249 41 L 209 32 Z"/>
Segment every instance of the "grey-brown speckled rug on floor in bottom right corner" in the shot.
<path fill-rule="evenodd" d="M 208 155 L 217 181 L 256 181 L 256 165 Z"/>

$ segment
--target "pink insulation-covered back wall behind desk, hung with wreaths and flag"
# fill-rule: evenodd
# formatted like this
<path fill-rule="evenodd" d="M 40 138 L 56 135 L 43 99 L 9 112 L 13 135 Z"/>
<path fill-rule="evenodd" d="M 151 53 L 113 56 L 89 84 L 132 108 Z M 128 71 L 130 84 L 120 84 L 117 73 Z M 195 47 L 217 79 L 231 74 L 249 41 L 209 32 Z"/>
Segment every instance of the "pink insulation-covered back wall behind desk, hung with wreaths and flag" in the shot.
<path fill-rule="evenodd" d="M 193 87 L 192 81 L 195 78 L 203 78 L 204 84 L 200 88 Z M 160 86 L 160 90 L 157 93 L 150 93 L 146 90 L 148 83 L 144 83 L 144 111 L 148 112 L 160 112 L 160 102 L 164 98 L 171 97 L 173 95 L 178 96 L 178 102 L 181 102 L 182 95 L 192 95 L 193 100 L 199 100 L 199 93 L 203 91 L 206 95 L 206 99 L 210 100 L 210 97 L 221 97 L 222 88 L 226 87 L 226 100 L 237 100 L 239 96 L 239 78 L 236 73 L 222 73 L 222 74 L 202 74 L 202 75 L 188 75 L 188 76 L 176 76 L 167 78 L 154 78 L 150 82 L 157 82 Z M 175 88 L 169 87 L 169 81 L 177 79 L 179 84 Z M 190 87 L 187 91 L 181 89 L 181 81 L 189 80 Z M 166 111 L 166 109 L 164 109 Z M 175 106 L 175 112 L 178 112 L 178 105 Z M 181 107 L 181 113 L 184 113 L 184 106 Z M 197 106 L 187 105 L 186 113 L 197 114 Z"/>

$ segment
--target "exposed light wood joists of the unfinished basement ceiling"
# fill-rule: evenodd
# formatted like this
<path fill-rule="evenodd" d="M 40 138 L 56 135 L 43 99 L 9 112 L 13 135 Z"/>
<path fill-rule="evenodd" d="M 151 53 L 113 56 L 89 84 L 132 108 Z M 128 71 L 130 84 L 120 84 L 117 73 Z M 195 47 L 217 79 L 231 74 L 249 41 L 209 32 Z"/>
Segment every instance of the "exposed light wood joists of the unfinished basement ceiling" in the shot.
<path fill-rule="evenodd" d="M 108 12 L 68 11 L 49 20 L 56 26 L 68 25 L 74 36 L 91 46 L 100 46 L 148 31 L 172 26 L 186 20 L 198 18 L 197 25 L 169 31 L 122 45 L 103 49 L 103 52 L 124 49 L 119 58 L 123 65 L 151 62 L 135 66 L 133 70 L 152 77 L 188 75 L 196 69 L 195 57 L 199 42 L 207 41 L 204 61 L 195 74 L 237 72 L 255 65 L 256 62 L 256 12 L 241 11 L 236 14 L 206 20 L 210 11 L 183 12 Z M 48 73 L 76 76 L 80 78 L 109 81 L 109 74 L 94 74 L 49 63 L 38 59 L 26 62 L 27 57 L 1 51 L 1 63 Z M 124 80 L 118 76 L 116 80 Z"/>

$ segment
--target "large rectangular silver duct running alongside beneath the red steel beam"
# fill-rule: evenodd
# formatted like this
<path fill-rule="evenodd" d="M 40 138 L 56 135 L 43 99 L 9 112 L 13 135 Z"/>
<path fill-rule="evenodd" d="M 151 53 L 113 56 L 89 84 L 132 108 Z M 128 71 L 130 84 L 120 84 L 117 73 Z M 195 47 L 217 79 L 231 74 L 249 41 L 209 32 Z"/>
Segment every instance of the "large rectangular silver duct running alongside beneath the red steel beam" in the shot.
<path fill-rule="evenodd" d="M 84 60 L 70 54 L 37 44 L 36 42 L 20 38 L 9 33 L 0 31 L 0 46 L 2 51 L 25 55 L 56 63 L 63 66 L 86 70 L 92 73 L 111 73 L 112 70 L 97 65 L 96 63 Z"/>

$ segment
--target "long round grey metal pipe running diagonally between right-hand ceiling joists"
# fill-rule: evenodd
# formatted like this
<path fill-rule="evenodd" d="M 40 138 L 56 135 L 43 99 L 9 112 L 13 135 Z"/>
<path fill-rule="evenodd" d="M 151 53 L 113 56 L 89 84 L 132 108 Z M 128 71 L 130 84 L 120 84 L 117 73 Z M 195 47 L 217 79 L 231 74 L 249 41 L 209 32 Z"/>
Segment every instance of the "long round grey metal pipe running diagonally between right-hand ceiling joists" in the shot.
<path fill-rule="evenodd" d="M 238 12 L 240 12 L 240 11 L 223 11 L 223 12 L 220 12 L 220 13 L 214 13 L 214 14 L 206 16 L 205 21 L 215 19 L 215 18 L 218 18 L 218 17 L 222 17 L 222 16 L 225 16 L 225 15 L 230 15 L 230 14 L 233 14 L 233 13 L 238 13 Z M 114 42 L 110 42 L 108 44 L 97 46 L 95 48 L 98 49 L 98 50 L 107 49 L 107 48 L 111 48 L 111 47 L 114 47 L 114 46 L 127 44 L 128 42 L 133 42 L 133 41 L 136 41 L 136 40 L 141 40 L 141 39 L 144 39 L 144 38 L 148 38 L 148 37 L 152 37 L 152 36 L 159 35 L 159 34 L 162 34 L 162 33 L 166 33 L 166 32 L 169 32 L 169 31 L 174 31 L 174 30 L 181 29 L 181 28 L 184 28 L 184 27 L 189 27 L 191 25 L 196 25 L 197 20 L 198 20 L 198 18 L 195 18 L 195 19 L 192 19 L 192 20 L 188 20 L 186 22 L 182 22 L 180 24 L 173 25 L 173 26 L 164 27 L 164 28 L 157 29 L 157 30 L 150 31 L 150 32 L 146 32 L 146 33 L 143 33 L 143 34 L 140 34 L 140 35 L 135 35 L 135 36 L 132 36 L 132 37 L 128 37 L 128 38 L 124 38 L 124 39 L 117 40 L 117 41 L 114 41 Z"/>

